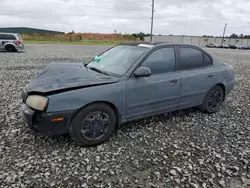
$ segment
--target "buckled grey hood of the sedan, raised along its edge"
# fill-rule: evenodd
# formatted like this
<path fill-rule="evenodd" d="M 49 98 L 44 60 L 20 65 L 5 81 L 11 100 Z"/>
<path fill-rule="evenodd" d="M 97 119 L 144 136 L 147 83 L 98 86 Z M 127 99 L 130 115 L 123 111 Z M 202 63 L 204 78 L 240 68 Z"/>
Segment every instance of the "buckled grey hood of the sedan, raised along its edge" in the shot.
<path fill-rule="evenodd" d="M 115 83 L 118 78 L 87 69 L 82 63 L 51 63 L 27 84 L 27 92 L 54 92 Z"/>

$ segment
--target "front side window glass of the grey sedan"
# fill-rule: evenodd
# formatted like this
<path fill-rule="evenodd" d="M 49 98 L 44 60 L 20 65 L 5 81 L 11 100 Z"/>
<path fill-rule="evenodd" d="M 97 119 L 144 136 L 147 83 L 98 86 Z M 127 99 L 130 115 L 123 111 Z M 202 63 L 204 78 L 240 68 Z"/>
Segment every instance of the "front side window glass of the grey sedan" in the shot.
<path fill-rule="evenodd" d="M 166 47 L 154 51 L 141 66 L 150 68 L 152 75 L 175 71 L 174 47 Z"/>

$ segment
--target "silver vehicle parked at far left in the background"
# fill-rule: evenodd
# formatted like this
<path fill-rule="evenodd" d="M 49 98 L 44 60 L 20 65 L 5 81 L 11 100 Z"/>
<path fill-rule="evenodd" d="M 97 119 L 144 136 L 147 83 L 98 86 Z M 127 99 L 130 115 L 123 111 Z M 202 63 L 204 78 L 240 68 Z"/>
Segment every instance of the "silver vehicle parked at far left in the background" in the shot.
<path fill-rule="evenodd" d="M 0 50 L 17 52 L 18 50 L 23 50 L 24 48 L 24 42 L 19 34 L 0 33 Z"/>

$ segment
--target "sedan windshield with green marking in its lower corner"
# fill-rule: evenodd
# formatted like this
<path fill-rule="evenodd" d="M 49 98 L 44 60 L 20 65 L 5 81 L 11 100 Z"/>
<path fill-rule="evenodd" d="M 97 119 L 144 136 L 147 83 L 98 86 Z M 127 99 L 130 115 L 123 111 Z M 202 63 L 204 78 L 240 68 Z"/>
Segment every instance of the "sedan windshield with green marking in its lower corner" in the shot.
<path fill-rule="evenodd" d="M 87 67 L 94 67 L 108 74 L 124 75 L 147 48 L 119 45 L 95 57 Z"/>

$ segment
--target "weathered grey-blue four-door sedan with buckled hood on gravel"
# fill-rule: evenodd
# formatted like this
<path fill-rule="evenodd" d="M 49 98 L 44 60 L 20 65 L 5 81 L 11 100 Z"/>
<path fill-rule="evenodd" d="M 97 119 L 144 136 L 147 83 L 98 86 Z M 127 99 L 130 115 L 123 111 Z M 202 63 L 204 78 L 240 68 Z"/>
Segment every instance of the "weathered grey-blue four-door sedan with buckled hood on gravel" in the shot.
<path fill-rule="evenodd" d="M 35 134 L 69 133 L 90 147 L 125 122 L 190 107 L 216 113 L 234 85 L 233 67 L 199 47 L 124 43 L 90 62 L 52 62 L 23 89 L 22 111 Z"/>

